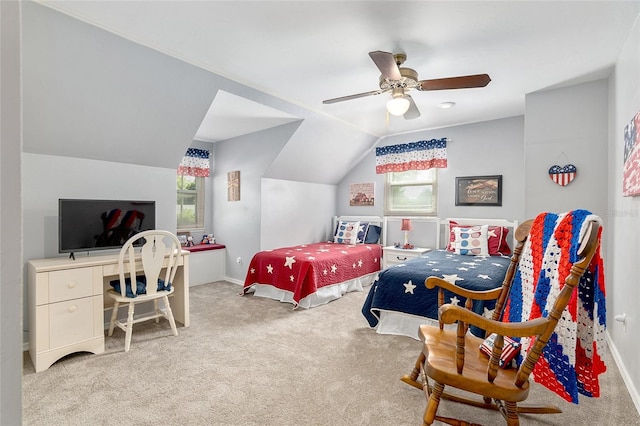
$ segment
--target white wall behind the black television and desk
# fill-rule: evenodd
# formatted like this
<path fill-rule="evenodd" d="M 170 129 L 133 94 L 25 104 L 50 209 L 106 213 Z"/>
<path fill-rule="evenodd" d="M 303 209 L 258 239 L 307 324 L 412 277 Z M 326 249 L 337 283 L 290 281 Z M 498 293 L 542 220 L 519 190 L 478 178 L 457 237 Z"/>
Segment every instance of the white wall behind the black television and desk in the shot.
<path fill-rule="evenodd" d="M 23 153 L 22 169 L 25 331 L 29 329 L 26 262 L 68 256 L 58 253 L 59 198 L 154 200 L 156 227 L 176 231 L 176 169 L 29 153 Z"/>

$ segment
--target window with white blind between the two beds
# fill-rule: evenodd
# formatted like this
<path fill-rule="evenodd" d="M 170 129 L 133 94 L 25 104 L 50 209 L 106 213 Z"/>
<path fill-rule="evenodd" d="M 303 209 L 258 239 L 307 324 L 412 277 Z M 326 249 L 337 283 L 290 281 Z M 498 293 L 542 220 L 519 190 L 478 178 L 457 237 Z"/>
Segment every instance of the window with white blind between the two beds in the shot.
<path fill-rule="evenodd" d="M 387 173 L 385 215 L 436 215 L 437 169 Z"/>

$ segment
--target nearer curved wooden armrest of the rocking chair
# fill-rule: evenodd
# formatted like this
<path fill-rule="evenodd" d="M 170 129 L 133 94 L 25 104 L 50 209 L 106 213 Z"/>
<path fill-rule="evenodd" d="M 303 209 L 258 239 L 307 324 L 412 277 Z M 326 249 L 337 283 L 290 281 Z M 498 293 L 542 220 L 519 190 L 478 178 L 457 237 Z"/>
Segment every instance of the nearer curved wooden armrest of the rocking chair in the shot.
<path fill-rule="evenodd" d="M 438 309 L 440 321 L 444 324 L 452 324 L 456 321 L 462 321 L 465 324 L 475 325 L 482 328 L 488 333 L 496 333 L 501 336 L 509 337 L 528 337 L 540 334 L 547 327 L 546 318 L 536 318 L 523 322 L 501 322 L 494 321 L 478 315 L 473 311 L 465 309 L 461 306 L 446 304 Z"/>

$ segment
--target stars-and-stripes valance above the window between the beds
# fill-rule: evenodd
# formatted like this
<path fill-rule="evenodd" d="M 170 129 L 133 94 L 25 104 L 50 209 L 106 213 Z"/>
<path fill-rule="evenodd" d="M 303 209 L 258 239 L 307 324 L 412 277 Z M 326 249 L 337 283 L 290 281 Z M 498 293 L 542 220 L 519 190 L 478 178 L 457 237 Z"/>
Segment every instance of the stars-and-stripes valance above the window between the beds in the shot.
<path fill-rule="evenodd" d="M 447 138 L 376 148 L 376 173 L 447 167 Z"/>

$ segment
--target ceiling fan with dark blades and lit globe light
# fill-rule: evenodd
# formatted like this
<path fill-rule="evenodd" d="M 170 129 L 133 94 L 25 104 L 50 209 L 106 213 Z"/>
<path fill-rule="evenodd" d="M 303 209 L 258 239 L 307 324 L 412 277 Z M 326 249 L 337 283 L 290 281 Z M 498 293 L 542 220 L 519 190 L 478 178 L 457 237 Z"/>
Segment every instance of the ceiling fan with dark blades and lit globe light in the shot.
<path fill-rule="evenodd" d="M 391 100 L 387 102 L 387 110 L 389 113 L 393 115 L 404 115 L 405 119 L 410 120 L 420 117 L 418 107 L 413 101 L 413 98 L 407 93 L 412 89 L 421 91 L 468 89 L 484 87 L 491 81 L 491 78 L 489 78 L 487 74 L 418 80 L 418 73 L 415 70 L 401 67 L 404 61 L 407 60 L 407 55 L 404 53 L 392 54 L 376 50 L 375 52 L 369 52 L 369 56 L 382 73 L 380 76 L 380 89 L 327 99 L 322 101 L 323 104 L 333 104 L 335 102 L 391 92 Z"/>

